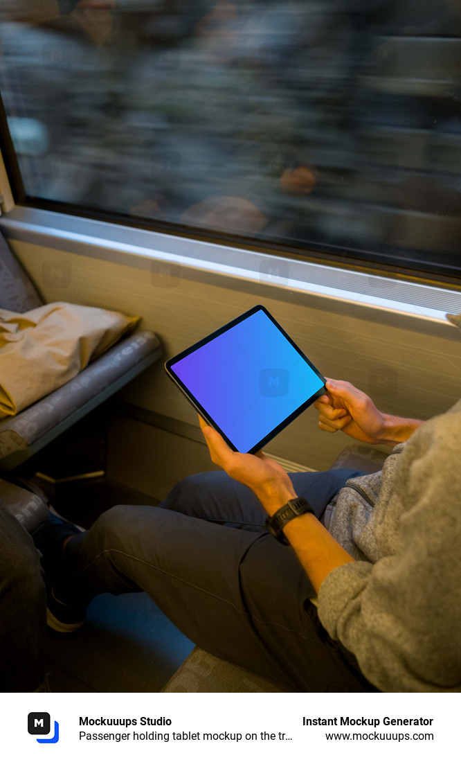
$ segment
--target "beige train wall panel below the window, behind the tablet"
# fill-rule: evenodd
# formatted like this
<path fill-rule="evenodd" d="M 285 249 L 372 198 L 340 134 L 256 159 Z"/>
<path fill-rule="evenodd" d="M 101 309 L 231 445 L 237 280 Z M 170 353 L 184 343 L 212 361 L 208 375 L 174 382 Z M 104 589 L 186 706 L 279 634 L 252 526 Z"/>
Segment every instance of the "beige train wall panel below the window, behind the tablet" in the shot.
<path fill-rule="evenodd" d="M 319 309 L 321 299 L 313 306 L 306 294 L 299 303 L 287 287 L 273 284 L 261 297 L 261 284 L 245 280 L 240 287 L 229 279 L 228 285 L 222 277 L 210 283 L 188 267 L 165 278 L 153 270 L 18 240 L 10 245 L 47 302 L 141 315 L 141 327 L 162 341 L 165 359 L 262 302 L 325 376 L 351 381 L 383 411 L 426 419 L 459 399 L 461 343 L 454 327 L 440 336 L 427 329 L 424 319 L 408 329 L 399 319 L 386 324 L 386 315 L 376 310 L 369 311 L 370 319 L 357 317 L 347 303 L 333 312 L 325 299 Z M 398 290 L 396 282 L 395 298 Z M 323 470 L 350 443 L 341 432 L 319 431 L 310 408 L 266 450 L 301 468 Z M 110 479 L 160 500 L 183 476 L 213 468 L 197 416 L 162 362 L 119 392 L 107 446 Z"/>

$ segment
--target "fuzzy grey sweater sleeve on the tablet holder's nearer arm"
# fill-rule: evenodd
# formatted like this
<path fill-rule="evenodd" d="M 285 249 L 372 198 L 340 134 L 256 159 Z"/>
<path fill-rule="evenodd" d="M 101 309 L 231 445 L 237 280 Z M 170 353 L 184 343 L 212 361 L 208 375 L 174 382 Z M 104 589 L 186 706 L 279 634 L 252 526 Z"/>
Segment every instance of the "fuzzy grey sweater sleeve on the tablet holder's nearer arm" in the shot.
<path fill-rule="evenodd" d="M 379 558 L 335 568 L 319 591 L 323 626 L 384 691 L 461 690 L 461 416 L 450 412 L 415 432 L 376 504 Z"/>

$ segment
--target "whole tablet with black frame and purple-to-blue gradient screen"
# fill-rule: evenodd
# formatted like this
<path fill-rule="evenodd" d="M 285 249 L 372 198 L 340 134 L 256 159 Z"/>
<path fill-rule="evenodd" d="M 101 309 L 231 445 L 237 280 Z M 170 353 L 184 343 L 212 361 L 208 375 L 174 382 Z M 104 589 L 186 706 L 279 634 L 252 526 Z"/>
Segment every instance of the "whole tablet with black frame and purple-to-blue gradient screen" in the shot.
<path fill-rule="evenodd" d="M 325 378 L 261 305 L 165 363 L 232 450 L 255 453 L 325 393 Z"/>

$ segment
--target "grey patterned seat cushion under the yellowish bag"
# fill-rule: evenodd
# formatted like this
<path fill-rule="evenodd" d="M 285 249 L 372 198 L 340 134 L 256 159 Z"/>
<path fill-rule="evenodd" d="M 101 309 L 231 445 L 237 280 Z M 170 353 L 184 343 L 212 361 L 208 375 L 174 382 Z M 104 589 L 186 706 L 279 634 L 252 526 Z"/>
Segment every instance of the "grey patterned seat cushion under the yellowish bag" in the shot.
<path fill-rule="evenodd" d="M 84 411 L 82 415 L 85 415 L 102 401 L 104 392 L 109 392 L 104 397 L 107 399 L 110 393 L 120 388 L 117 386 L 120 379 L 126 379 L 124 383 L 127 383 L 136 376 L 136 367 L 139 367 L 140 372 L 142 367 L 156 360 L 160 354 L 160 342 L 155 334 L 152 331 L 140 331 L 120 341 L 102 357 L 98 357 L 98 360 L 90 363 L 72 381 L 56 389 L 56 392 L 30 405 L 18 415 L 3 420 L 0 423 L 2 469 L 9 470 L 16 466 L 14 456 L 17 453 L 30 450 L 37 440 L 52 434 L 59 424 L 63 424 L 59 433 L 65 431 L 66 422 L 69 421 L 71 425 L 74 422 L 72 417 L 78 415 L 79 411 Z M 117 388 L 113 389 L 114 386 Z M 82 415 L 78 417 L 81 418 Z M 51 436 L 50 441 L 53 438 Z M 22 462 L 21 459 L 19 462 Z"/>

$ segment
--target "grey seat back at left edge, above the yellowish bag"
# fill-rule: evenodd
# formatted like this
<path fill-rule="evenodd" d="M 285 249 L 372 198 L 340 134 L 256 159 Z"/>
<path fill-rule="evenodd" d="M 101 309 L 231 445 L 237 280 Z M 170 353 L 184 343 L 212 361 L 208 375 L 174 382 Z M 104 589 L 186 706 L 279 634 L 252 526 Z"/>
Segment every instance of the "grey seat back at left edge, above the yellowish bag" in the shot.
<path fill-rule="evenodd" d="M 11 253 L 0 233 L 0 309 L 27 312 L 28 309 L 40 307 L 42 304 L 34 283 Z"/>

